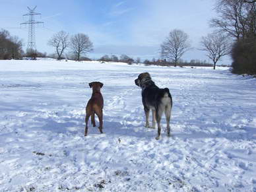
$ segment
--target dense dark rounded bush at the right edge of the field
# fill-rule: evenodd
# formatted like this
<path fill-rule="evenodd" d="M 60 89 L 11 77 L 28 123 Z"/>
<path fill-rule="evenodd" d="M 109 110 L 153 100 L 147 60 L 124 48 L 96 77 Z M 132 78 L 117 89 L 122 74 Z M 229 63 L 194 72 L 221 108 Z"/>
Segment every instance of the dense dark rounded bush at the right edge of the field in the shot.
<path fill-rule="evenodd" d="M 256 38 L 238 40 L 232 48 L 232 73 L 256 74 Z"/>

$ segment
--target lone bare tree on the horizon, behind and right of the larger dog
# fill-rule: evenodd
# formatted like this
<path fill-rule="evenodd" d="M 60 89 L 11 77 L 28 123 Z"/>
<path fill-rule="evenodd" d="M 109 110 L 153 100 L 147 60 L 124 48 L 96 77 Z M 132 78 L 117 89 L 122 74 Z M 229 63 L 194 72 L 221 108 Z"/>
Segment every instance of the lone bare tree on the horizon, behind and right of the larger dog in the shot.
<path fill-rule="evenodd" d="M 162 58 L 170 59 L 177 66 L 182 55 L 191 48 L 189 36 L 182 30 L 173 30 L 161 44 Z"/>

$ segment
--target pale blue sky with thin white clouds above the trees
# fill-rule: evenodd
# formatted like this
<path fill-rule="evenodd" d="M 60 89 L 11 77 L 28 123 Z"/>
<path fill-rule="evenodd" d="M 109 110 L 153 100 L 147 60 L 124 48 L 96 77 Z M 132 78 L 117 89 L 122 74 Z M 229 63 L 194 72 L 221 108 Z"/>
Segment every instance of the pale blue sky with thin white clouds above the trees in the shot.
<path fill-rule="evenodd" d="M 94 44 L 88 57 L 98 59 L 102 55 L 126 54 L 141 59 L 158 59 L 160 44 L 174 29 L 189 35 L 193 49 L 181 59 L 201 59 L 210 62 L 206 53 L 199 51 L 200 40 L 214 29 L 209 20 L 216 16 L 212 0 L 0 0 L 0 28 L 19 36 L 26 49 L 28 26 L 20 26 L 28 17 L 28 7 L 35 7 L 36 20 L 44 24 L 36 26 L 36 48 L 40 52 L 53 53 L 48 40 L 64 30 L 70 35 L 87 34 Z M 230 64 L 224 57 L 219 64 Z"/>

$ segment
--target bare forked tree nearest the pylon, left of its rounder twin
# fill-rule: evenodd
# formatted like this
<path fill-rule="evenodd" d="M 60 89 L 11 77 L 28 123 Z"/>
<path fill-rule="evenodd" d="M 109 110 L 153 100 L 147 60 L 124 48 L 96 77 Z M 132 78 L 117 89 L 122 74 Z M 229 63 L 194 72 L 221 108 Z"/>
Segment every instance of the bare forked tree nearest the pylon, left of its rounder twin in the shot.
<path fill-rule="evenodd" d="M 65 31 L 60 31 L 57 34 L 54 34 L 48 42 L 49 46 L 53 46 L 57 53 L 57 59 L 61 59 L 65 49 L 69 46 L 69 34 Z"/>

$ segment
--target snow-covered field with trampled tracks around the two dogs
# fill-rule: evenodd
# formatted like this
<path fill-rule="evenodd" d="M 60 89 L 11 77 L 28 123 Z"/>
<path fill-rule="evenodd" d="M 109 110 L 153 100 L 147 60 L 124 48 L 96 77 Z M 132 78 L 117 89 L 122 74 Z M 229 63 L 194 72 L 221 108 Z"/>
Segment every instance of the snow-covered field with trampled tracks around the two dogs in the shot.
<path fill-rule="evenodd" d="M 144 128 L 146 71 L 170 88 L 173 137 Z M 104 134 L 84 137 L 92 81 Z M 0 191 L 256 191 L 255 93 L 227 68 L 0 61 Z"/>

